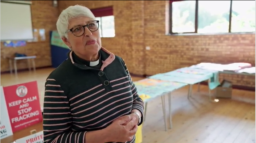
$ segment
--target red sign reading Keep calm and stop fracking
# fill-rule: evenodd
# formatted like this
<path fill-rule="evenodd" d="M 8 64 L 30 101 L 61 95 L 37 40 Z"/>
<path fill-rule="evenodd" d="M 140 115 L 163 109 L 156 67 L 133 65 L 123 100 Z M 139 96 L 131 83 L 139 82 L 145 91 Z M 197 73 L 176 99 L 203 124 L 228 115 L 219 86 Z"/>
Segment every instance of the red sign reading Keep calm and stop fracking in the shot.
<path fill-rule="evenodd" d="M 43 121 L 36 81 L 3 88 L 13 133 Z"/>

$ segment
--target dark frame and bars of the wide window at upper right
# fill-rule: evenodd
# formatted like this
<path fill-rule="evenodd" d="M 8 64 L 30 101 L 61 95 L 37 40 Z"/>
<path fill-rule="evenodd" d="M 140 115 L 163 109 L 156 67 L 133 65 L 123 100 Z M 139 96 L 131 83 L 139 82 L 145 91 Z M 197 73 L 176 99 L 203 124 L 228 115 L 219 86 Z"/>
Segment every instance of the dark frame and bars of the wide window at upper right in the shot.
<path fill-rule="evenodd" d="M 229 8 L 229 27 L 228 32 L 223 33 L 197 33 L 198 31 L 198 0 L 196 0 L 195 5 L 195 31 L 194 32 L 183 32 L 183 33 L 174 33 L 172 30 L 172 3 L 177 1 L 186 1 L 186 0 L 169 0 L 169 31 L 168 35 L 227 35 L 227 34 L 255 34 L 254 32 L 231 32 L 231 26 L 232 26 L 232 3 L 233 0 L 230 2 L 230 8 Z"/>

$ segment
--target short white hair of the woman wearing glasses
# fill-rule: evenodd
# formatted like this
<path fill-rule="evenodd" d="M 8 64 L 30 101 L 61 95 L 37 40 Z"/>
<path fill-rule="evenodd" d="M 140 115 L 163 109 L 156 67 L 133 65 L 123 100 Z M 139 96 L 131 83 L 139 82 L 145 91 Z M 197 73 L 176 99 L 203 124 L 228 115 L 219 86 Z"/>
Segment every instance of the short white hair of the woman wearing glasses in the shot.
<path fill-rule="evenodd" d="M 67 33 L 65 33 L 68 30 L 68 21 L 70 18 L 75 18 L 78 16 L 86 16 L 95 19 L 95 16 L 91 10 L 82 5 L 74 5 L 64 9 L 60 13 L 56 22 L 57 30 L 61 38 L 68 38 Z"/>

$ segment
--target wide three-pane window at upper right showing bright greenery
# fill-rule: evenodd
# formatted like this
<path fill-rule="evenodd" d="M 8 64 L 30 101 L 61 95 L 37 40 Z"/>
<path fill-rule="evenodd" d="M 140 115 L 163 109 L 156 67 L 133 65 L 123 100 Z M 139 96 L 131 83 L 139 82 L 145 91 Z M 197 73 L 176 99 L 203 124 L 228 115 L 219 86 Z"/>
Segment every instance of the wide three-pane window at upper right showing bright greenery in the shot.
<path fill-rule="evenodd" d="M 255 1 L 170 0 L 169 33 L 255 32 Z"/>

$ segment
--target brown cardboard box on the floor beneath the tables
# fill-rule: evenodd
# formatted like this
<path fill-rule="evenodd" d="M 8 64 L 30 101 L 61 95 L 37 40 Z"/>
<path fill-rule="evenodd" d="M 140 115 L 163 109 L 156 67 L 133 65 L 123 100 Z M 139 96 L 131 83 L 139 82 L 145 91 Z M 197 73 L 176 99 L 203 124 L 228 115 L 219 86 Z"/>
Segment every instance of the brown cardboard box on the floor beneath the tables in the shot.
<path fill-rule="evenodd" d="M 216 98 L 232 98 L 232 83 L 231 81 L 223 80 L 216 88 Z"/>

